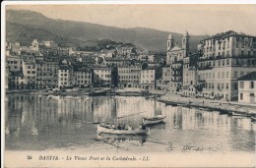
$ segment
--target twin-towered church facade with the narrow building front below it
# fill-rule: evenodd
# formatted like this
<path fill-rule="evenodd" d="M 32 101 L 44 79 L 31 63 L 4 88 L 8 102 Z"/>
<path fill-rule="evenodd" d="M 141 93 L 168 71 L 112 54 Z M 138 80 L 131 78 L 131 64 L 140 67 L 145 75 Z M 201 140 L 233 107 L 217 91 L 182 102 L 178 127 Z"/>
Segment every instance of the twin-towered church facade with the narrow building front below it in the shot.
<path fill-rule="evenodd" d="M 182 45 L 174 43 L 172 35 L 168 35 L 167 51 L 166 51 L 166 65 L 170 67 L 170 82 L 169 90 L 177 93 L 182 89 L 183 80 L 183 59 L 188 56 L 189 52 L 189 34 L 186 31 L 182 37 Z"/>

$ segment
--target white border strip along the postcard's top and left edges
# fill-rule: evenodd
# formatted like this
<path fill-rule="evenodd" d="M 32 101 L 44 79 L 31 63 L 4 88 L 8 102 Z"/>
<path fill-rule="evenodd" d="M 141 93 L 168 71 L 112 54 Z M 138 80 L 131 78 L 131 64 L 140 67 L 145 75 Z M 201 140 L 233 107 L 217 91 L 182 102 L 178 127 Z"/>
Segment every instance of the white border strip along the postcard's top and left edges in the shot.
<path fill-rule="evenodd" d="M 60 4 L 256 4 L 255 0 L 125 0 L 125 1 L 3 1 L 1 3 L 1 167 L 4 167 L 5 149 L 5 9 L 7 5 L 60 5 Z"/>

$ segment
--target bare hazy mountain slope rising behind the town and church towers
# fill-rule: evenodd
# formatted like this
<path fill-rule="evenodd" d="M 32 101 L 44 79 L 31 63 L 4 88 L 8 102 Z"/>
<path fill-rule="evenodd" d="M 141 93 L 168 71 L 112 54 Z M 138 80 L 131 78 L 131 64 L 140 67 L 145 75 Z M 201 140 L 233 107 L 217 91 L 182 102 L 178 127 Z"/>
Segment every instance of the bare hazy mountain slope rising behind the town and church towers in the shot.
<path fill-rule="evenodd" d="M 6 12 L 8 41 L 21 41 L 28 45 L 33 38 L 50 39 L 62 45 L 86 45 L 101 38 L 108 38 L 123 43 L 156 51 L 165 51 L 166 39 L 170 32 L 152 28 L 113 28 L 96 24 L 52 20 L 42 14 L 27 10 L 8 10 Z M 177 43 L 182 34 L 171 32 Z M 197 43 L 205 35 L 191 35 L 190 46 L 196 51 Z M 90 41 L 90 42 L 88 42 Z"/>

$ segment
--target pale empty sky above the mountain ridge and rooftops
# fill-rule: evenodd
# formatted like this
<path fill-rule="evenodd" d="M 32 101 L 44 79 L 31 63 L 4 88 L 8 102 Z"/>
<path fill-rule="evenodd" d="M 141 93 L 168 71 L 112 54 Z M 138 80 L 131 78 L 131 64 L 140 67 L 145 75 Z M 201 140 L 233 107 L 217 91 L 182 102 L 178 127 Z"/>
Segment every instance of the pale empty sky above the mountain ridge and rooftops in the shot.
<path fill-rule="evenodd" d="M 256 35 L 256 5 L 177 4 L 82 4 L 19 5 L 6 9 L 26 9 L 51 19 L 88 22 L 117 28 L 156 28 L 170 32 L 209 34 L 232 29 Z"/>

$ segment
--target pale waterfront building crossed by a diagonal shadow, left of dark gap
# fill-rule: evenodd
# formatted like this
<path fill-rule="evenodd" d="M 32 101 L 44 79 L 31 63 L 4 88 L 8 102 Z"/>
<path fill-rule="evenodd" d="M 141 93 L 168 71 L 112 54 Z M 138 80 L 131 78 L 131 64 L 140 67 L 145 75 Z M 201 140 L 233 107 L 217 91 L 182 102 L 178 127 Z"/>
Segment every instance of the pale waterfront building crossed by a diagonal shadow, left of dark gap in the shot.
<path fill-rule="evenodd" d="M 94 66 L 93 67 L 93 81 L 95 86 L 110 86 L 112 82 L 111 67 L 108 66 Z"/>

